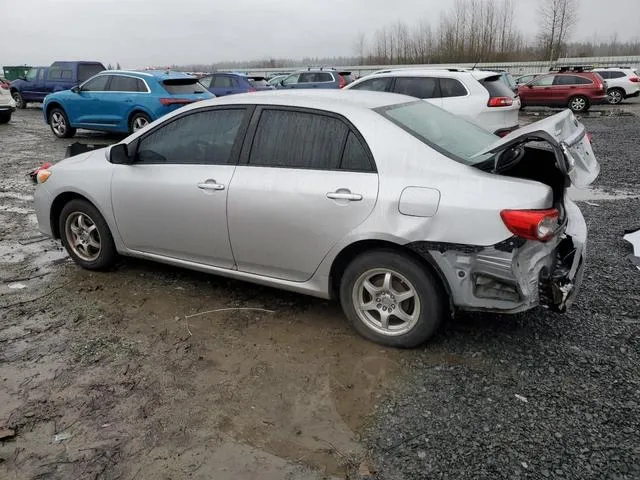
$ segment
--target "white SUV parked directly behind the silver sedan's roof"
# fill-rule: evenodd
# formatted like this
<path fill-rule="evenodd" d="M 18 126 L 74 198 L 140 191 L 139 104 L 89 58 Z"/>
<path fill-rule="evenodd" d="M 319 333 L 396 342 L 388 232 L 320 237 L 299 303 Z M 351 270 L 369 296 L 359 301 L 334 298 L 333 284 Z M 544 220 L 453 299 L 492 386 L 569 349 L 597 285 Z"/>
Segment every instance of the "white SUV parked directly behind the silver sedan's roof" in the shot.
<path fill-rule="evenodd" d="M 500 136 L 518 128 L 520 99 L 498 72 L 390 69 L 367 75 L 346 88 L 421 98 Z"/>

